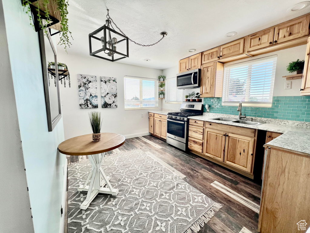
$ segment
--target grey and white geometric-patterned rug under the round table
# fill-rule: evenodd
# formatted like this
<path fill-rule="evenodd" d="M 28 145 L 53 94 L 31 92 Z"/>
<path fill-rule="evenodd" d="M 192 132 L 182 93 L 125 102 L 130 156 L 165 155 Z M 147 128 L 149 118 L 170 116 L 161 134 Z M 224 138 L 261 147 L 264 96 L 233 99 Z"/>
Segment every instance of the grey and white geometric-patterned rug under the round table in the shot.
<path fill-rule="evenodd" d="M 98 194 L 86 210 L 89 161 L 69 165 L 69 233 L 196 233 L 222 205 L 182 180 L 140 149 L 112 154 L 101 164 L 119 194 Z"/>

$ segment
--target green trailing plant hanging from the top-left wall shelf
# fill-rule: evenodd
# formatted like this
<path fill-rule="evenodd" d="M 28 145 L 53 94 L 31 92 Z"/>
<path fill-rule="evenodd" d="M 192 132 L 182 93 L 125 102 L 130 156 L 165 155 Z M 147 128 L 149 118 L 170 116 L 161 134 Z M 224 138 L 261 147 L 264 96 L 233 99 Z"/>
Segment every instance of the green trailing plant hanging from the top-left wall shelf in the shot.
<path fill-rule="evenodd" d="M 68 18 L 67 18 L 68 6 L 69 6 L 68 0 L 52 0 L 52 2 L 53 1 L 55 1 L 54 4 L 57 6 L 56 11 L 59 11 L 60 16 L 61 16 L 61 21 L 60 21 L 61 35 L 60 35 L 60 41 L 58 44 L 64 45 L 64 49 L 67 52 L 67 46 L 70 47 L 70 45 L 71 45 L 71 42 L 69 41 L 69 39 L 70 39 L 70 37 L 71 37 L 71 39 L 73 39 L 71 32 L 69 31 L 69 28 L 68 28 Z M 39 5 L 38 1 L 36 1 L 34 3 L 35 7 L 37 7 L 36 8 L 36 16 L 37 16 L 38 23 L 39 23 L 40 27 L 42 28 L 42 30 L 44 30 L 45 34 L 47 34 L 47 25 L 51 22 L 50 12 L 49 12 L 48 7 L 47 7 L 47 5 L 49 3 L 50 3 L 49 0 L 42 0 L 43 9 L 41 9 L 41 10 L 45 12 L 46 20 L 43 20 L 42 16 L 40 15 L 40 5 Z M 23 0 L 24 11 L 27 7 L 26 13 L 29 16 L 30 25 L 32 25 L 33 29 L 35 30 L 34 25 L 33 25 L 33 18 L 34 17 L 32 17 L 30 4 L 31 4 L 31 2 L 29 0 Z"/>

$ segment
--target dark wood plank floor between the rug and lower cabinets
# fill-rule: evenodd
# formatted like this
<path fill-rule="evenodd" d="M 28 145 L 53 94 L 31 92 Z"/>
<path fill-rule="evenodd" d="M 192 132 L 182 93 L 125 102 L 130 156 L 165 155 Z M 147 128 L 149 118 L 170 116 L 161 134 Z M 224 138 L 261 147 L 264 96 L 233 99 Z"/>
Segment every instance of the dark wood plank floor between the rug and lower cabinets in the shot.
<path fill-rule="evenodd" d="M 206 194 L 215 202 L 223 204 L 223 207 L 215 213 L 215 216 L 203 227 L 200 233 L 256 233 L 259 214 L 248 208 L 246 205 L 238 202 L 230 195 L 223 193 L 211 185 L 217 181 L 225 187 L 237 192 L 246 199 L 256 203 L 259 206 L 261 185 L 253 180 L 230 171 L 213 162 L 201 158 L 192 153 L 186 153 L 174 148 L 165 141 L 151 135 L 126 139 L 124 145 L 119 147 L 120 151 L 133 148 L 151 152 L 176 170 L 183 173 L 184 180 L 190 185 Z M 149 141 L 149 142 L 148 142 Z M 161 147 L 161 148 L 160 148 Z M 111 151 L 109 153 L 115 153 Z M 75 162 L 77 158 L 68 158 L 69 162 Z"/>

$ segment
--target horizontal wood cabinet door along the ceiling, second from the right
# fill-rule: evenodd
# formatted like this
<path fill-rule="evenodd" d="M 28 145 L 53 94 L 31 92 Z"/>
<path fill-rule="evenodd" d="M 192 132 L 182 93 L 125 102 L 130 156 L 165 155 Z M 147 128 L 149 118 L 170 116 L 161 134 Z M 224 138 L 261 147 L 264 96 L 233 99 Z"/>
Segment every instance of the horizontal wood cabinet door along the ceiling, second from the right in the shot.
<path fill-rule="evenodd" d="M 247 38 L 247 52 L 273 44 L 274 27 L 251 34 Z"/>

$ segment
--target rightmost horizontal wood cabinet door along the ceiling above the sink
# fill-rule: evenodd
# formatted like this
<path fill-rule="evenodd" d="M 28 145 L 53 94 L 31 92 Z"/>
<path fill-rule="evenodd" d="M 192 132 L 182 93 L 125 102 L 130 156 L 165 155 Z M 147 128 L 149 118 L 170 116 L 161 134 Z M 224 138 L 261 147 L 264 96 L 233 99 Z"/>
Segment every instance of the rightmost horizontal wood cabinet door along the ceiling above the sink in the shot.
<path fill-rule="evenodd" d="M 281 43 L 309 34 L 309 14 L 275 26 L 273 43 Z"/>

